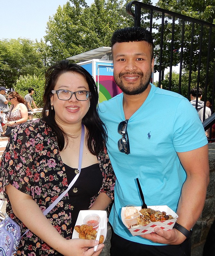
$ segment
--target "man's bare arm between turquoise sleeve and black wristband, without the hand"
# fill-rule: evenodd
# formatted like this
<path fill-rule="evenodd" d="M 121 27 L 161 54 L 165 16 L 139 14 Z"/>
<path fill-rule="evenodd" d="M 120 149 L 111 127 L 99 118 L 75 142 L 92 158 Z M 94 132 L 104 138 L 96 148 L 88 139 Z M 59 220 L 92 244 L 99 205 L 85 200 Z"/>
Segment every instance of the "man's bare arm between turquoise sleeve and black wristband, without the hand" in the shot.
<path fill-rule="evenodd" d="M 202 213 L 209 184 L 208 145 L 177 153 L 187 178 L 178 204 L 178 223 L 190 230 Z"/>

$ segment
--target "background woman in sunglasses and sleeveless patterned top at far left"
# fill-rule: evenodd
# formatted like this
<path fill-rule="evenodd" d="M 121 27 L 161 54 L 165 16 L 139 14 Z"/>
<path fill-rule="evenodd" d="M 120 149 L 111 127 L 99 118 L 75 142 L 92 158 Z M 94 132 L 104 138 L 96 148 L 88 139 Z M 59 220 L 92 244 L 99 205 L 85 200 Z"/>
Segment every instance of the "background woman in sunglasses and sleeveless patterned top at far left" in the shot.
<path fill-rule="evenodd" d="M 28 110 L 24 104 L 25 100 L 17 91 L 10 92 L 7 99 L 11 102 L 10 111 L 6 115 L 7 126 L 15 128 L 18 124 L 27 121 Z"/>

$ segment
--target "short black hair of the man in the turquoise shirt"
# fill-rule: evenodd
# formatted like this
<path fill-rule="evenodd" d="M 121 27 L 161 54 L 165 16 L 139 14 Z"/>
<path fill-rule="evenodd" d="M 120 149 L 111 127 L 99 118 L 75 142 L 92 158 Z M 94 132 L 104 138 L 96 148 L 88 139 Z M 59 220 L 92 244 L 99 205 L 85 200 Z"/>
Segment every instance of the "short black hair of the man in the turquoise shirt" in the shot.
<path fill-rule="evenodd" d="M 153 37 L 152 34 L 142 27 L 126 27 L 116 30 L 111 37 L 111 48 L 115 43 L 128 43 L 145 41 L 152 46 L 151 59 L 153 58 Z"/>

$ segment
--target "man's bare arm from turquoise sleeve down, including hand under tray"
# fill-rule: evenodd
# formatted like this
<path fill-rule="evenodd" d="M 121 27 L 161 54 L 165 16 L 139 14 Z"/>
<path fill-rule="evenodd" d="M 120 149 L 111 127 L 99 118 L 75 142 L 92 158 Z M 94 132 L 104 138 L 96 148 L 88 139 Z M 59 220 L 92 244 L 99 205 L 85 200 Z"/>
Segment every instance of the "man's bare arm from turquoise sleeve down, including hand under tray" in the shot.
<path fill-rule="evenodd" d="M 190 230 L 202 213 L 205 203 L 209 184 L 208 145 L 177 154 L 187 174 L 178 204 L 177 223 Z M 155 228 L 154 231 L 155 233 L 142 235 L 142 237 L 166 244 L 180 244 L 186 239 L 176 229 L 163 231 L 160 228 Z"/>

